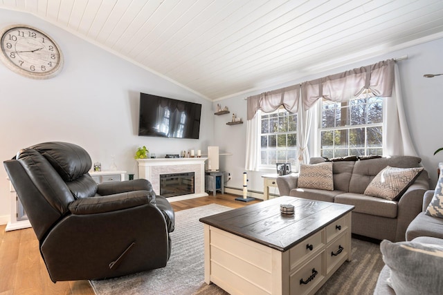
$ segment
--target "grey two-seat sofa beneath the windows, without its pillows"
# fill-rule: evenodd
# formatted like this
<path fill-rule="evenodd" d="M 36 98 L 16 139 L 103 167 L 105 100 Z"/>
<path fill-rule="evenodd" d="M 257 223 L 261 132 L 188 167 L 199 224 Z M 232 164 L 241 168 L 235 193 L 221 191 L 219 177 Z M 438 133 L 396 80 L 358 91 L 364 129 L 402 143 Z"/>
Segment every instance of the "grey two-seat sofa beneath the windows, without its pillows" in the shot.
<path fill-rule="evenodd" d="M 326 162 L 324 158 L 311 158 L 310 164 Z M 300 189 L 298 175 L 279 176 L 276 180 L 280 196 L 294 196 L 311 200 L 337 202 L 355 206 L 352 211 L 352 233 L 375 238 L 405 240 L 406 228 L 422 211 L 424 193 L 429 189 L 428 173 L 423 170 L 404 191 L 398 201 L 365 196 L 368 184 L 386 166 L 419 167 L 421 159 L 411 156 L 343 159 L 332 162 L 334 190 Z"/>

